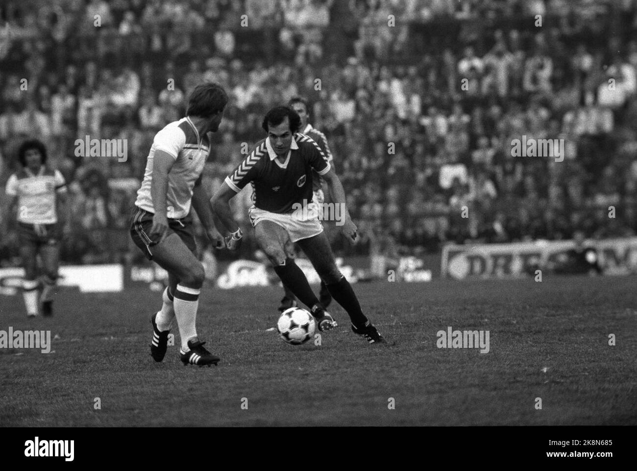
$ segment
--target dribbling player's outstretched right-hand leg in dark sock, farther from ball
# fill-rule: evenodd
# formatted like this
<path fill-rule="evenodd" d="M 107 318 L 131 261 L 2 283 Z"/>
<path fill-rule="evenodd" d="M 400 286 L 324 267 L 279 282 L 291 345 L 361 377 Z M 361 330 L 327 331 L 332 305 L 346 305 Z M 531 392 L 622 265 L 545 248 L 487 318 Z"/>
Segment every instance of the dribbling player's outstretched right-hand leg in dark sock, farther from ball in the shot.
<path fill-rule="evenodd" d="M 352 289 L 352 285 L 336 267 L 334 254 L 325 232 L 307 239 L 301 239 L 297 243 L 310 259 L 318 276 L 325 281 L 327 289 L 336 302 L 347 311 L 352 320 L 352 331 L 362 336 L 369 343 L 385 343 L 383 336 L 376 331 L 376 327 L 371 325 L 371 322 L 362 312 L 361 304 Z"/>

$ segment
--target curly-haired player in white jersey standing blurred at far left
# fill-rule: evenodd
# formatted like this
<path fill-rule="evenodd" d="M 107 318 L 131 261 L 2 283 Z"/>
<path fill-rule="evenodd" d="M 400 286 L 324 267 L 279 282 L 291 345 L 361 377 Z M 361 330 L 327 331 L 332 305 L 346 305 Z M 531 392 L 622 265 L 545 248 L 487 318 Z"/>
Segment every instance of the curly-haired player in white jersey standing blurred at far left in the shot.
<path fill-rule="evenodd" d="M 6 195 L 13 197 L 9 214 L 17 212 L 20 257 L 24 266 L 22 295 L 27 316 L 38 315 L 38 255 L 42 261 L 42 315 L 53 315 L 58 278 L 62 226 L 66 223 L 66 182 L 58 170 L 47 167 L 47 148 L 27 140 L 18 149 L 22 170 L 11 175 Z"/>

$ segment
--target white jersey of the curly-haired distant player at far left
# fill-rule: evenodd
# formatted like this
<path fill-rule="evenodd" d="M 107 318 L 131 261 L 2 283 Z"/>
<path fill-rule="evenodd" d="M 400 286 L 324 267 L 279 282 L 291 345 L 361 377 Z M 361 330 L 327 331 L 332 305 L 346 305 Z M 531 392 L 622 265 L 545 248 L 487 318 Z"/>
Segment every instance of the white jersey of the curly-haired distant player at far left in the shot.
<path fill-rule="evenodd" d="M 56 193 L 66 192 L 66 181 L 58 170 L 42 165 L 37 174 L 22 168 L 6 183 L 6 194 L 18 197 L 18 221 L 26 224 L 55 224 Z"/>

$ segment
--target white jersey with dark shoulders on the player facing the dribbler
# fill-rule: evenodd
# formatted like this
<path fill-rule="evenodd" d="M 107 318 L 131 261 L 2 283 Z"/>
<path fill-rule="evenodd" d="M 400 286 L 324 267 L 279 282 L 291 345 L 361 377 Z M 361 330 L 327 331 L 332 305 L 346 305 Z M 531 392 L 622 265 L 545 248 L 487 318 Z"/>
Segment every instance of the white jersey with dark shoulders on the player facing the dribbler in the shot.
<path fill-rule="evenodd" d="M 153 180 L 153 158 L 156 151 L 164 151 L 175 159 L 168 172 L 168 194 L 166 195 L 166 216 L 170 219 L 182 219 L 190 212 L 192 188 L 201 176 L 208 155 L 210 140 L 199 133 L 188 117 L 169 123 L 159 131 L 148 153 L 146 171 L 141 188 L 137 191 L 135 205 L 155 213 L 150 186 Z"/>

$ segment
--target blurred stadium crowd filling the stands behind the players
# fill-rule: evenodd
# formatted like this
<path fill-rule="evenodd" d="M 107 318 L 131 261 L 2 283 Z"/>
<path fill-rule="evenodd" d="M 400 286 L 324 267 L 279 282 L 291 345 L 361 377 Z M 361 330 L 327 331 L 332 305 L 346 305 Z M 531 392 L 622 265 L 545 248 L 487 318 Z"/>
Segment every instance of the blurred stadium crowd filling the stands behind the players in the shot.
<path fill-rule="evenodd" d="M 635 0 L 9 0 L 0 15 L 0 184 L 21 140 L 46 142 L 71 182 L 63 260 L 126 253 L 152 138 L 203 80 L 232 97 L 210 191 L 269 107 L 313 103 L 360 229 L 354 247 L 332 231 L 342 255 L 637 231 Z M 85 136 L 125 139 L 127 159 L 78 155 Z M 562 140 L 563 161 L 512 156 L 523 136 Z"/>

